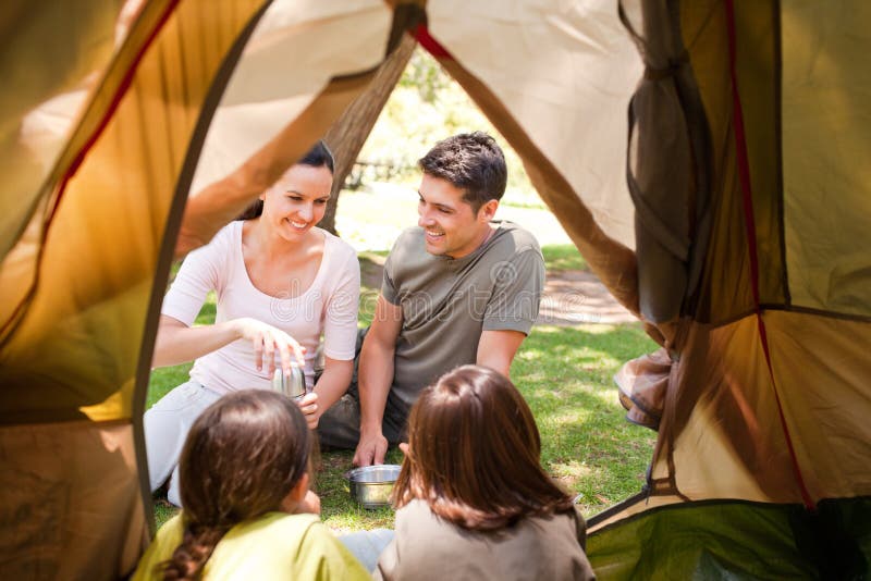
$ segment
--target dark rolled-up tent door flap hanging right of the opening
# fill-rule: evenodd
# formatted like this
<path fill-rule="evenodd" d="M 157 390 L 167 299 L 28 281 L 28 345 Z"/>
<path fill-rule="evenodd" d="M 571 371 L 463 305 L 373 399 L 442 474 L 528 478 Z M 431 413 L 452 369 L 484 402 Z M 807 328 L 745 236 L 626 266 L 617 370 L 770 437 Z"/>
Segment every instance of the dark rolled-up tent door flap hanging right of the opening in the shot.
<path fill-rule="evenodd" d="M 674 4 L 642 2 L 640 23 L 633 23 L 624 4 L 621 18 L 646 65 L 628 107 L 626 176 L 635 206 L 639 306 L 645 320 L 664 323 L 682 313 L 704 254 L 709 133 Z"/>

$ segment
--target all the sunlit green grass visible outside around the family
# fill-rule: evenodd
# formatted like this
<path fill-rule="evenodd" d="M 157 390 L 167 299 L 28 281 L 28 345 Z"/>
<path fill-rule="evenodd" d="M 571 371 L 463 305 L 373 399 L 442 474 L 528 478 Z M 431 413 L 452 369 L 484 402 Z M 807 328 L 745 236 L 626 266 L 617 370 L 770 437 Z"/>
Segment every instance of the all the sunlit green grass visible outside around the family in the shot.
<path fill-rule="evenodd" d="M 542 248 L 549 272 L 585 269 L 574 247 Z M 364 282 L 377 280 L 385 252 L 361 252 Z M 360 324 L 371 321 L 378 287 L 364 284 Z M 197 323 L 214 320 L 210 295 Z M 574 494 L 589 517 L 638 492 L 655 442 L 653 432 L 628 423 L 612 380 L 621 364 L 655 348 L 638 324 L 536 326 L 522 345 L 512 367 L 512 380 L 523 392 L 538 422 L 542 465 Z M 154 370 L 148 392 L 150 407 L 163 394 L 187 381 L 191 364 Z M 392 528 L 390 508 L 366 510 L 349 497 L 344 473 L 351 452 L 324 453 L 319 459 L 316 490 L 322 520 L 339 532 Z M 391 449 L 389 462 L 402 454 Z M 155 498 L 158 526 L 175 514 L 160 496 Z"/>

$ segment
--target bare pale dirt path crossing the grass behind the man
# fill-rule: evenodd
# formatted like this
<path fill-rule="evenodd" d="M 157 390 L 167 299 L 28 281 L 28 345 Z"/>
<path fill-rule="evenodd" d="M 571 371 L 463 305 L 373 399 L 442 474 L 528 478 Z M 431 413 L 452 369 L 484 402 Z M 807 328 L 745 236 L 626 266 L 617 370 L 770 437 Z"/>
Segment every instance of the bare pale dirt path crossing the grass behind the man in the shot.
<path fill-rule="evenodd" d="M 360 260 L 363 285 L 381 287 L 384 258 L 371 255 Z M 637 321 L 591 272 L 548 272 L 537 324 L 628 323 Z"/>

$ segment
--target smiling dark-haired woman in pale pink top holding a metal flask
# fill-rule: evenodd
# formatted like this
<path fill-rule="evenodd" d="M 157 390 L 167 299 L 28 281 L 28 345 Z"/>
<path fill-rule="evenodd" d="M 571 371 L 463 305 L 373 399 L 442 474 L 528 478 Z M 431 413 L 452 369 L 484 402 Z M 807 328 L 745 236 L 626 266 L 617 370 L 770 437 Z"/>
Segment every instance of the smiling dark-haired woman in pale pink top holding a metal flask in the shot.
<path fill-rule="evenodd" d="M 315 224 L 332 187 L 333 159 L 319 141 L 240 220 L 192 252 L 163 300 L 154 367 L 195 360 L 189 381 L 145 415 L 151 489 L 169 478 L 180 505 L 177 460 L 187 431 L 221 395 L 270 388 L 277 367 L 303 367 L 299 401 L 310 428 L 345 392 L 353 370 L 359 297 L 354 249 Z M 213 290 L 214 324 L 192 326 Z M 324 366 L 315 353 L 324 336 Z"/>

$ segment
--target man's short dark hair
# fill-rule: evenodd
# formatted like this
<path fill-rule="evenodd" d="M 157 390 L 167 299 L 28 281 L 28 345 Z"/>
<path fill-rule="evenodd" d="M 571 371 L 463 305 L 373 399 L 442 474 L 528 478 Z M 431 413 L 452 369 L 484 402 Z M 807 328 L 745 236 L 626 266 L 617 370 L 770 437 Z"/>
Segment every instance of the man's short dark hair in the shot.
<path fill-rule="evenodd" d="M 463 199 L 475 212 L 490 200 L 502 199 L 508 181 L 502 149 L 483 132 L 461 133 L 443 139 L 417 164 L 424 173 L 464 189 Z"/>

